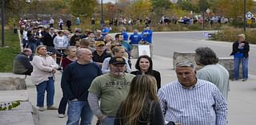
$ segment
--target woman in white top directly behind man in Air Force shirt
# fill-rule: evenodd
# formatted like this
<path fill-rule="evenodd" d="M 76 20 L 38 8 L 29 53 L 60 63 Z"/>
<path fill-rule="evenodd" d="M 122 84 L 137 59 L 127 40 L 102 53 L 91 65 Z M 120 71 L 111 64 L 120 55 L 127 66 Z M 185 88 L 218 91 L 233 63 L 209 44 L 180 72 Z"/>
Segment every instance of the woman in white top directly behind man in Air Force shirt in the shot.
<path fill-rule="evenodd" d="M 126 50 L 122 47 L 122 45 L 115 45 L 113 49 L 111 49 L 113 53 L 113 57 L 124 57 Z M 110 72 L 109 62 L 111 57 L 107 57 L 102 63 L 102 73 L 106 74 Z M 126 58 L 125 58 L 126 59 Z M 130 73 L 131 69 L 128 64 L 128 60 L 126 59 L 126 72 Z"/>

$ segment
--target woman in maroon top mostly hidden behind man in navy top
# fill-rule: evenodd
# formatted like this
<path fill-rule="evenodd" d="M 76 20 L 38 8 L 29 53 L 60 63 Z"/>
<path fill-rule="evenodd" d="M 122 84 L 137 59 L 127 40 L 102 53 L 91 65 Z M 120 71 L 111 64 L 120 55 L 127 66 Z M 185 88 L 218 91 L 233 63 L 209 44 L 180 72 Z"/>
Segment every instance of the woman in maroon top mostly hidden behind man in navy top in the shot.
<path fill-rule="evenodd" d="M 62 68 L 65 70 L 66 66 L 68 64 L 71 64 L 74 61 L 77 61 L 78 58 L 76 57 L 77 53 L 77 47 L 75 46 L 69 46 L 66 49 L 66 57 L 62 60 Z M 59 103 L 58 106 L 58 117 L 59 118 L 64 118 L 65 117 L 65 111 L 66 111 L 66 104 L 68 101 L 68 98 L 66 96 L 66 93 L 64 93 L 64 90 L 62 89 L 62 100 Z"/>

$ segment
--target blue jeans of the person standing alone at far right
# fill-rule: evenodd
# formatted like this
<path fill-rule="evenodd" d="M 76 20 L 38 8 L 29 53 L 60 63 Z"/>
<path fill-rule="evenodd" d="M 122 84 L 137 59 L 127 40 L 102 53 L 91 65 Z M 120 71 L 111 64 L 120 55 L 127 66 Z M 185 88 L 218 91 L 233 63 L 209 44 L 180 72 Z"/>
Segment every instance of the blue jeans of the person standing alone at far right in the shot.
<path fill-rule="evenodd" d="M 239 66 L 241 62 L 242 62 L 242 77 L 243 79 L 248 79 L 248 60 L 249 60 L 249 57 L 247 58 L 234 57 L 234 79 L 235 80 L 239 79 Z"/>

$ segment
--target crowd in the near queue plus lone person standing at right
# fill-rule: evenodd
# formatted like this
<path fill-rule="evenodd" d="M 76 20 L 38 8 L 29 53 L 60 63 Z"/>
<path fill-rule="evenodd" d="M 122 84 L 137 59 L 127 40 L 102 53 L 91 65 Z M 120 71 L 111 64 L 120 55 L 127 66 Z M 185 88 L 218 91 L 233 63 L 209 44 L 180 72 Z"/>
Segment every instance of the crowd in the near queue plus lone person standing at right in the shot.
<path fill-rule="evenodd" d="M 14 73 L 31 74 L 38 111 L 58 110 L 59 118 L 67 114 L 67 125 L 89 125 L 94 115 L 102 125 L 227 124 L 230 76 L 208 47 L 195 50 L 194 60 L 202 69 L 196 71 L 190 61 L 178 62 L 175 69 L 178 80 L 162 87 L 161 73 L 153 69 L 150 56 L 138 57 L 136 70 L 131 69 L 133 45 L 152 47 L 149 25 L 142 33 L 134 29 L 130 35 L 123 27 L 115 39 L 106 25 L 84 33 L 79 28 L 70 33 L 40 25 L 32 26 L 27 33 L 26 29 L 31 28 L 23 30 L 24 50 L 14 59 L 14 65 L 24 64 L 26 70 Z M 248 52 L 249 45 L 240 34 L 231 54 L 237 61 L 235 68 L 240 61 L 245 65 L 243 81 L 248 79 Z M 32 53 L 34 56 L 29 59 Z M 59 107 L 55 107 L 54 73 L 60 67 L 63 96 Z M 238 71 L 234 74 L 238 80 Z"/>

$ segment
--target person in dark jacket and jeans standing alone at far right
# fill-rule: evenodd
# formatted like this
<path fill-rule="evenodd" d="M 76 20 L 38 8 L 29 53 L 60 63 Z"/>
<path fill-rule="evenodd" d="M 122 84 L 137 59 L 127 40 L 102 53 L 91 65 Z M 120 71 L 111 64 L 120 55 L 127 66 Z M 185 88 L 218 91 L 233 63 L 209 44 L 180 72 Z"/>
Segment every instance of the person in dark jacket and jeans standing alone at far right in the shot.
<path fill-rule="evenodd" d="M 250 45 L 246 41 L 245 34 L 238 35 L 238 41 L 232 45 L 232 53 L 234 56 L 234 80 L 239 80 L 239 67 L 242 62 L 242 81 L 248 79 L 248 60 L 249 60 Z"/>

